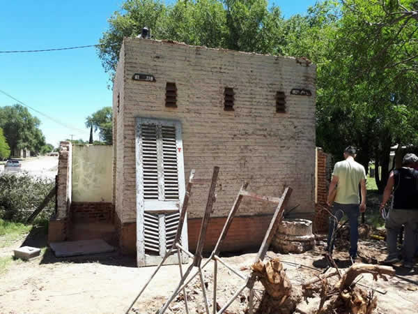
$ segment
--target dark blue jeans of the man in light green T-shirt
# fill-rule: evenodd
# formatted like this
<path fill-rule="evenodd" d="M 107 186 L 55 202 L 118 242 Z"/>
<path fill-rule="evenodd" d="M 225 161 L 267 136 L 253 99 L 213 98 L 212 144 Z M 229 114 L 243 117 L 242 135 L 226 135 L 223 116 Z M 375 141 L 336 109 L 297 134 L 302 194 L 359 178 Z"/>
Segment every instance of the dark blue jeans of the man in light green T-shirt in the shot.
<path fill-rule="evenodd" d="M 359 239 L 359 230 L 357 227 L 360 214 L 359 204 L 334 203 L 332 206 L 332 215 L 334 215 L 336 219 L 330 216 L 330 227 L 328 229 L 329 231 L 327 242 L 328 250 L 330 253 L 332 253 L 332 250 L 334 250 L 335 237 L 333 237 L 333 234 L 336 230 L 336 225 L 338 225 L 339 220 L 343 218 L 343 214 L 347 215 L 348 223 L 350 224 L 350 256 L 357 257 L 357 241 Z"/>

